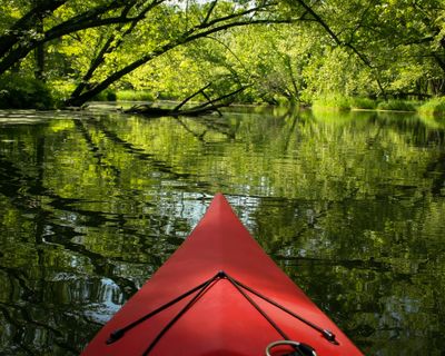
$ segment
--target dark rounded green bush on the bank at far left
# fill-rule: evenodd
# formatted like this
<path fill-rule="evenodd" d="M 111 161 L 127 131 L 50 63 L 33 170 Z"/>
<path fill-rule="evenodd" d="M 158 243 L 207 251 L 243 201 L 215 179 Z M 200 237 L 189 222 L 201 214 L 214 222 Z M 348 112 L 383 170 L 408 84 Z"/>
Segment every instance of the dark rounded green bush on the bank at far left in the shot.
<path fill-rule="evenodd" d="M 46 83 L 32 77 L 6 75 L 0 78 L 0 108 L 51 109 L 55 100 Z"/>

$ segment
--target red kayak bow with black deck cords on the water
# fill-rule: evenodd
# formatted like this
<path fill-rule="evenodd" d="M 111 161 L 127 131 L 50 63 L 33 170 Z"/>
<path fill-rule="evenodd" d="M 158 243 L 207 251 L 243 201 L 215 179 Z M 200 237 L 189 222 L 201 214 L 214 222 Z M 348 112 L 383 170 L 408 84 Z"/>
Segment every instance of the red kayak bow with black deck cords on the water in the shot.
<path fill-rule="evenodd" d="M 217 195 L 83 356 L 363 355 Z"/>

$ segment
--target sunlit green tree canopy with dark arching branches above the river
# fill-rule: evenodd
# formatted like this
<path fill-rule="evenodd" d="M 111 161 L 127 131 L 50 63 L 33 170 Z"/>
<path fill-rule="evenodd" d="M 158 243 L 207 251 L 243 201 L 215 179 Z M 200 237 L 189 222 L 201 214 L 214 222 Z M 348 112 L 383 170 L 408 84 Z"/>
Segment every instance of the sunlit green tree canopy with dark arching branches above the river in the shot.
<path fill-rule="evenodd" d="M 443 0 L 2 2 L 0 81 L 36 77 L 66 106 L 108 88 L 180 98 L 211 82 L 248 85 L 249 102 L 445 91 Z"/>

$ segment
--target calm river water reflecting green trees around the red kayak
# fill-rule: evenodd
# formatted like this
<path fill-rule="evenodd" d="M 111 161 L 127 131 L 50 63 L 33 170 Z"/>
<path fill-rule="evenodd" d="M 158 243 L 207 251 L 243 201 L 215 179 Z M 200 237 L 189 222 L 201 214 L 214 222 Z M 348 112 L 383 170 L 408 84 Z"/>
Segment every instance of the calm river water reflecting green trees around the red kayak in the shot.
<path fill-rule="evenodd" d="M 0 355 L 77 355 L 222 191 L 366 355 L 445 355 L 445 119 L 0 111 Z"/>

